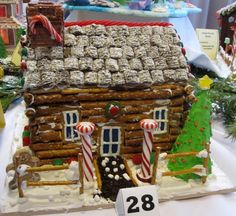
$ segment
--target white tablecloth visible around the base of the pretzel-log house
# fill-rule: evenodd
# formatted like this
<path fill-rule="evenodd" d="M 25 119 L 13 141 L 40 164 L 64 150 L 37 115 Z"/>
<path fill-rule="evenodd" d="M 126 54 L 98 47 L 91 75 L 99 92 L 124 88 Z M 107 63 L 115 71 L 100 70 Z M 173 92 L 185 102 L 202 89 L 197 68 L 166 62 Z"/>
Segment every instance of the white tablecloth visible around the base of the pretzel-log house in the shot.
<path fill-rule="evenodd" d="M 5 114 L 6 127 L 0 132 L 0 191 L 4 186 L 5 167 L 9 160 L 13 129 L 15 127 L 15 116 L 22 112 L 22 106 L 14 106 Z M 213 142 L 211 146 L 212 158 L 218 166 L 229 176 L 236 185 L 236 143 L 231 143 L 225 138 L 225 133 L 219 122 L 214 123 Z M 225 195 L 212 195 L 197 199 L 168 201 L 160 204 L 161 216 L 235 216 L 236 215 L 236 193 Z M 67 214 L 56 214 L 58 216 L 115 216 L 114 209 L 104 209 L 87 212 L 76 212 Z"/>

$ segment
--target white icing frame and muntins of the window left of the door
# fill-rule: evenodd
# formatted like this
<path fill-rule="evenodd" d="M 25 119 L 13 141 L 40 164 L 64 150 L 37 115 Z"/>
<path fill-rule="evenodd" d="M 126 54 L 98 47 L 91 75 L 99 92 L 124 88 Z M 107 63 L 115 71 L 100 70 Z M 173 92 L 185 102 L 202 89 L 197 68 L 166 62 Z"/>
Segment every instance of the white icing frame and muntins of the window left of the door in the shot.
<path fill-rule="evenodd" d="M 77 122 L 75 122 L 75 123 L 68 123 L 67 122 L 67 115 L 70 115 L 70 119 L 72 119 L 72 122 L 73 122 L 73 114 L 75 114 L 76 115 L 76 117 L 77 117 Z M 67 137 L 67 131 L 66 131 L 66 129 L 68 128 L 68 127 L 70 127 L 71 128 L 71 131 L 74 131 L 74 128 L 75 128 L 75 126 L 77 125 L 77 123 L 79 122 L 79 112 L 78 112 L 78 110 L 70 110 L 70 111 L 64 111 L 63 112 L 63 116 L 64 116 L 64 139 L 65 139 L 65 141 L 76 141 L 76 140 L 80 140 L 80 135 L 78 134 L 78 137 L 74 137 L 74 136 L 72 136 L 72 138 L 70 138 L 70 137 Z M 77 132 L 76 132 L 77 133 Z M 74 133 L 72 133 L 73 135 L 74 135 Z"/>

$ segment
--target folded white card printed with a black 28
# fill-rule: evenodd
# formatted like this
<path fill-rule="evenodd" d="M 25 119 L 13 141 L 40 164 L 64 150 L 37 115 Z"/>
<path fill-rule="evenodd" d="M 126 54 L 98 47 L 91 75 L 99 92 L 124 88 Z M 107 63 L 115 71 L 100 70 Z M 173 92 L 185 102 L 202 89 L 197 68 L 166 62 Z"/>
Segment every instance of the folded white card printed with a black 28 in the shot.
<path fill-rule="evenodd" d="M 160 216 L 155 186 L 120 189 L 115 206 L 118 216 Z"/>

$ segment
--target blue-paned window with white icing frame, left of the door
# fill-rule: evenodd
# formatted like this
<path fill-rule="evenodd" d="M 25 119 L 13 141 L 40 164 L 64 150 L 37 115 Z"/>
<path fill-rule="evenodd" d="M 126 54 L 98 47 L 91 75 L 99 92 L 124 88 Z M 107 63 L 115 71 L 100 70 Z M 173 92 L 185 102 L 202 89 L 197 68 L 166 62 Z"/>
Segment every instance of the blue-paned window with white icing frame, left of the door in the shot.
<path fill-rule="evenodd" d="M 79 140 L 80 136 L 75 130 L 75 126 L 79 122 L 79 113 L 77 110 L 65 111 L 64 115 L 64 136 L 66 141 Z"/>

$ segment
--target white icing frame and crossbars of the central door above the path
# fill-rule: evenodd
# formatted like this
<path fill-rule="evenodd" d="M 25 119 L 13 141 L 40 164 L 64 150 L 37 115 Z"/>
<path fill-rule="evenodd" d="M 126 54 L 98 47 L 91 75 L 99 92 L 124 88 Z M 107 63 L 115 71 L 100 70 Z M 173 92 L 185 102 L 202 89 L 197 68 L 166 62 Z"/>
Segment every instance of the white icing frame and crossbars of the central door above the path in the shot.
<path fill-rule="evenodd" d="M 118 129 L 119 131 L 119 134 L 118 134 L 118 141 L 117 142 L 104 142 L 103 138 L 104 138 L 104 130 L 109 130 L 109 133 L 110 133 L 110 140 L 111 137 L 112 137 L 112 129 Z M 117 148 L 117 152 L 116 153 L 112 153 L 112 145 L 113 144 L 116 144 L 118 145 L 118 148 Z M 103 153 L 103 145 L 106 144 L 106 145 L 109 145 L 109 152 L 108 153 Z M 121 144 L 121 128 L 120 127 L 117 127 L 117 126 L 104 126 L 102 127 L 102 132 L 101 132 L 101 147 L 100 147 L 100 155 L 101 156 L 116 156 L 116 155 L 119 155 L 120 154 L 120 144 Z"/>

